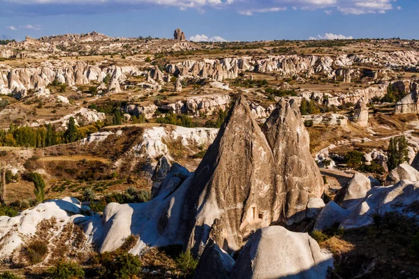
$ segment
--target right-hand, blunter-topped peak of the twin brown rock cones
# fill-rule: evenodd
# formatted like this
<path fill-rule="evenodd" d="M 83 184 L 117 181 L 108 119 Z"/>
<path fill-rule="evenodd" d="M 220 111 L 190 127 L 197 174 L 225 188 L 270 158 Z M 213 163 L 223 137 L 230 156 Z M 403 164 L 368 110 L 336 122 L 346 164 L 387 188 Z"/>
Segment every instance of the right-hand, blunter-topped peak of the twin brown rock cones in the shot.
<path fill-rule="evenodd" d="M 323 179 L 309 150 L 309 133 L 300 117 L 296 100 L 281 100 L 263 126 L 275 162 L 275 184 L 286 193 L 282 218 L 293 223 L 304 218 L 309 199 L 321 197 Z"/>

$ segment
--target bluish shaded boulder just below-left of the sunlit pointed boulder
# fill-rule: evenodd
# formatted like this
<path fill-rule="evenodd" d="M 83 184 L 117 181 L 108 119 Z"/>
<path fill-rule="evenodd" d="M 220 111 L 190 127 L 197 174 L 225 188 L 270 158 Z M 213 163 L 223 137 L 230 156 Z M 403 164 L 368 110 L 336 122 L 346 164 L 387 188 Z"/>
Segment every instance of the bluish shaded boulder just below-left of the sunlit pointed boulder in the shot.
<path fill-rule="evenodd" d="M 323 231 L 325 229 L 330 229 L 340 223 L 351 214 L 351 211 L 348 209 L 342 209 L 335 202 L 328 202 L 326 206 L 318 214 L 316 223 L 314 224 L 314 230 Z"/>

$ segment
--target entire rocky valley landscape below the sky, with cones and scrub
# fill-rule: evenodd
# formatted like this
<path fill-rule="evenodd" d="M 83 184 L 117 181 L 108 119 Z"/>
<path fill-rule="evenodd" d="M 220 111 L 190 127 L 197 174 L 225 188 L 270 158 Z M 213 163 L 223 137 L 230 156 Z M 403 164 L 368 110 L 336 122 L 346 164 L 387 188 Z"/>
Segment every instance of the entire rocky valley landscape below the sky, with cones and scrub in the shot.
<path fill-rule="evenodd" d="M 0 57 L 0 278 L 418 278 L 416 41 Z"/>

